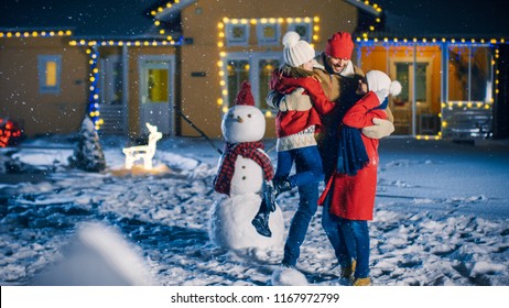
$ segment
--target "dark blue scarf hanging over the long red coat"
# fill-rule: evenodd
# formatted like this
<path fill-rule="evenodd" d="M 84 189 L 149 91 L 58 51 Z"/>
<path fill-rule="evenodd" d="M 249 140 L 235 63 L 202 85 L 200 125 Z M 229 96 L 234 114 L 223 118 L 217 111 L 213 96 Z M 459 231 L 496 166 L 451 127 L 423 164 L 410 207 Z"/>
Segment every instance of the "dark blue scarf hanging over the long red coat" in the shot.
<path fill-rule="evenodd" d="M 380 106 L 373 109 L 386 109 L 388 102 L 386 98 Z M 346 110 L 346 108 L 342 110 L 342 119 Z M 368 163 L 369 156 L 366 152 L 360 130 L 343 125 L 339 136 L 336 172 L 355 176 L 361 168 L 367 166 Z"/>

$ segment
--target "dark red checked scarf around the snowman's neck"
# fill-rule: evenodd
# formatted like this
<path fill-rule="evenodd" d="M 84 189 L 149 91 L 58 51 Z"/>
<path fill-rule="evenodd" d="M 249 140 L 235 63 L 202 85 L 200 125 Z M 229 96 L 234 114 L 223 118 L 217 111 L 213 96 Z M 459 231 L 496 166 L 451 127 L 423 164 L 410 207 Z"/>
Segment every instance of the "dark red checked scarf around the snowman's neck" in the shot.
<path fill-rule="evenodd" d="M 237 156 L 240 155 L 243 158 L 254 161 L 258 165 L 263 168 L 267 180 L 271 180 L 274 177 L 274 169 L 269 156 L 263 151 L 264 145 L 261 141 L 257 142 L 241 142 L 241 143 L 226 143 L 225 151 L 223 154 L 223 162 L 219 166 L 216 178 L 214 179 L 214 189 L 217 193 L 230 195 L 231 178 L 235 173 L 235 162 Z"/>

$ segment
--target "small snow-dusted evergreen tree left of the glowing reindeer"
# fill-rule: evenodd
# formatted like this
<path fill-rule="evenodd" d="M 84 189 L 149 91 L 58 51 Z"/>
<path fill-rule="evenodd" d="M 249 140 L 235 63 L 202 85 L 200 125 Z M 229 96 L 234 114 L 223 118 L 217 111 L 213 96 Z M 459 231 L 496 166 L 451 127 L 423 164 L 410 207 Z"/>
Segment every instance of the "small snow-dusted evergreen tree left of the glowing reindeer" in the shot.
<path fill-rule="evenodd" d="M 94 123 L 85 117 L 79 130 L 78 143 L 69 157 L 69 165 L 86 172 L 102 172 L 106 168 L 105 154 Z"/>

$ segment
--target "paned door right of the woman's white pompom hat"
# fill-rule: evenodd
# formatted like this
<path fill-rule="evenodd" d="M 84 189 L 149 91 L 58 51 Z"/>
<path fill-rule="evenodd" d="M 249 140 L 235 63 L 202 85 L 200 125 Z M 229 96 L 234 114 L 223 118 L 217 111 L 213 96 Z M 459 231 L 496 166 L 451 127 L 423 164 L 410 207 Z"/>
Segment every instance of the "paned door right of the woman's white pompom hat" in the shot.
<path fill-rule="evenodd" d="M 394 79 L 401 82 L 401 94 L 390 101 L 394 116 L 394 134 L 418 135 L 434 134 L 437 122 L 434 121 L 431 108 L 431 59 L 393 59 L 391 72 Z M 435 128 L 436 127 L 436 128 Z"/>

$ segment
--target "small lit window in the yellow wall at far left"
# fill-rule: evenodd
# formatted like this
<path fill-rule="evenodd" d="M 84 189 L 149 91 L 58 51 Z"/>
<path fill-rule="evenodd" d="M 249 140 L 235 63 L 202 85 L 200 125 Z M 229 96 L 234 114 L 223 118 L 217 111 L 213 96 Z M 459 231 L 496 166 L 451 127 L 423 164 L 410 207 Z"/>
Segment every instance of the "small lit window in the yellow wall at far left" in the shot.
<path fill-rule="evenodd" d="M 61 91 L 62 56 L 40 55 L 37 57 L 39 91 L 57 95 Z"/>

